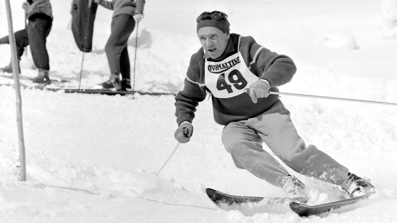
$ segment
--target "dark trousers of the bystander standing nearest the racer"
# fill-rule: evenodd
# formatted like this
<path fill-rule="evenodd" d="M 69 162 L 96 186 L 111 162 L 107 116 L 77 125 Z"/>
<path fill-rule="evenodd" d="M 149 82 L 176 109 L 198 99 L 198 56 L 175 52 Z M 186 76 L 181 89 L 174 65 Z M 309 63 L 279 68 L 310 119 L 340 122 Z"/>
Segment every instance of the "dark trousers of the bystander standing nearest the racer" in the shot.
<path fill-rule="evenodd" d="M 135 20 L 132 15 L 120 14 L 112 19 L 111 34 L 105 46 L 110 73 L 121 73 L 123 78 L 130 78 L 130 57 L 127 42 L 133 29 Z"/>

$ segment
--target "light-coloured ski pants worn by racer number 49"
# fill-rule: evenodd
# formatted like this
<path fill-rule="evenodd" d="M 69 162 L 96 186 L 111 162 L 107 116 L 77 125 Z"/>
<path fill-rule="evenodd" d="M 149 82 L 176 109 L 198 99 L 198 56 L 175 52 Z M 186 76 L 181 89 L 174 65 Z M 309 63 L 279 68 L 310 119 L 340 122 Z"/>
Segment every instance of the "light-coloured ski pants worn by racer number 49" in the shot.
<path fill-rule="evenodd" d="M 238 168 L 247 169 L 270 184 L 282 187 L 288 171 L 267 153 L 263 142 L 285 165 L 306 176 L 341 185 L 349 170 L 315 146 L 306 147 L 298 135 L 289 111 L 281 101 L 264 113 L 227 124 L 222 143 Z"/>

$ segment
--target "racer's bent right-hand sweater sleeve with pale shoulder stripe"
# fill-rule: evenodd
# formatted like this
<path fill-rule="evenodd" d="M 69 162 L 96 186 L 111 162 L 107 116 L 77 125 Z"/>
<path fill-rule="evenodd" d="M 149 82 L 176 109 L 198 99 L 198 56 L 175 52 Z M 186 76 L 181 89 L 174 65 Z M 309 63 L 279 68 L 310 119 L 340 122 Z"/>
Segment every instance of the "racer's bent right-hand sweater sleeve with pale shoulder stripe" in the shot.
<path fill-rule="evenodd" d="M 281 86 L 291 81 L 296 72 L 294 61 L 285 55 L 278 55 L 255 42 L 254 38 L 248 37 L 252 43 L 250 55 L 256 66 L 263 70 L 260 79 L 265 79 L 271 87 Z"/>

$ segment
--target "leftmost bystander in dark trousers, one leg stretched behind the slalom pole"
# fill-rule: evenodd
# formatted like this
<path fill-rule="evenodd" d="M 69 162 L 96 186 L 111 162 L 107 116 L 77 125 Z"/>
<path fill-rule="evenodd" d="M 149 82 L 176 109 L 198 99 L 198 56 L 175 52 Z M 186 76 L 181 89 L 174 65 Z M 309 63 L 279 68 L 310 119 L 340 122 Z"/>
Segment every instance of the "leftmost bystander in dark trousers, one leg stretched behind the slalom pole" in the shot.
<path fill-rule="evenodd" d="M 54 18 L 50 0 L 27 0 L 22 3 L 22 8 L 25 10 L 25 15 L 29 22 L 25 29 L 19 30 L 14 34 L 18 68 L 24 48 L 30 45 L 34 64 L 39 69 L 39 74 L 33 79 L 33 82 L 50 84 L 50 60 L 46 48 L 47 37 L 50 34 Z M 0 44 L 9 44 L 8 36 L 1 38 Z M 11 63 L 0 68 L 0 70 L 12 73 Z"/>

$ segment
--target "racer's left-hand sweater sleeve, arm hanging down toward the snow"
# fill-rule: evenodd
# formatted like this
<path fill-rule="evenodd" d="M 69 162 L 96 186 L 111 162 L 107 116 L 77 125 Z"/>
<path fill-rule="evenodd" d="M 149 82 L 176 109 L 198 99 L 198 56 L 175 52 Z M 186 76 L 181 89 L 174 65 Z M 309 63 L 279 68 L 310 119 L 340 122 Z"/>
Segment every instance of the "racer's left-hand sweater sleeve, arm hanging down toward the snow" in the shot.
<path fill-rule="evenodd" d="M 206 91 L 200 87 L 198 80 L 199 74 L 199 64 L 193 61 L 192 56 L 191 64 L 185 77 L 184 88 L 175 96 L 175 115 L 178 125 L 183 121 L 190 121 L 192 123 L 195 118 L 196 107 L 199 105 L 199 102 L 205 99 Z"/>

